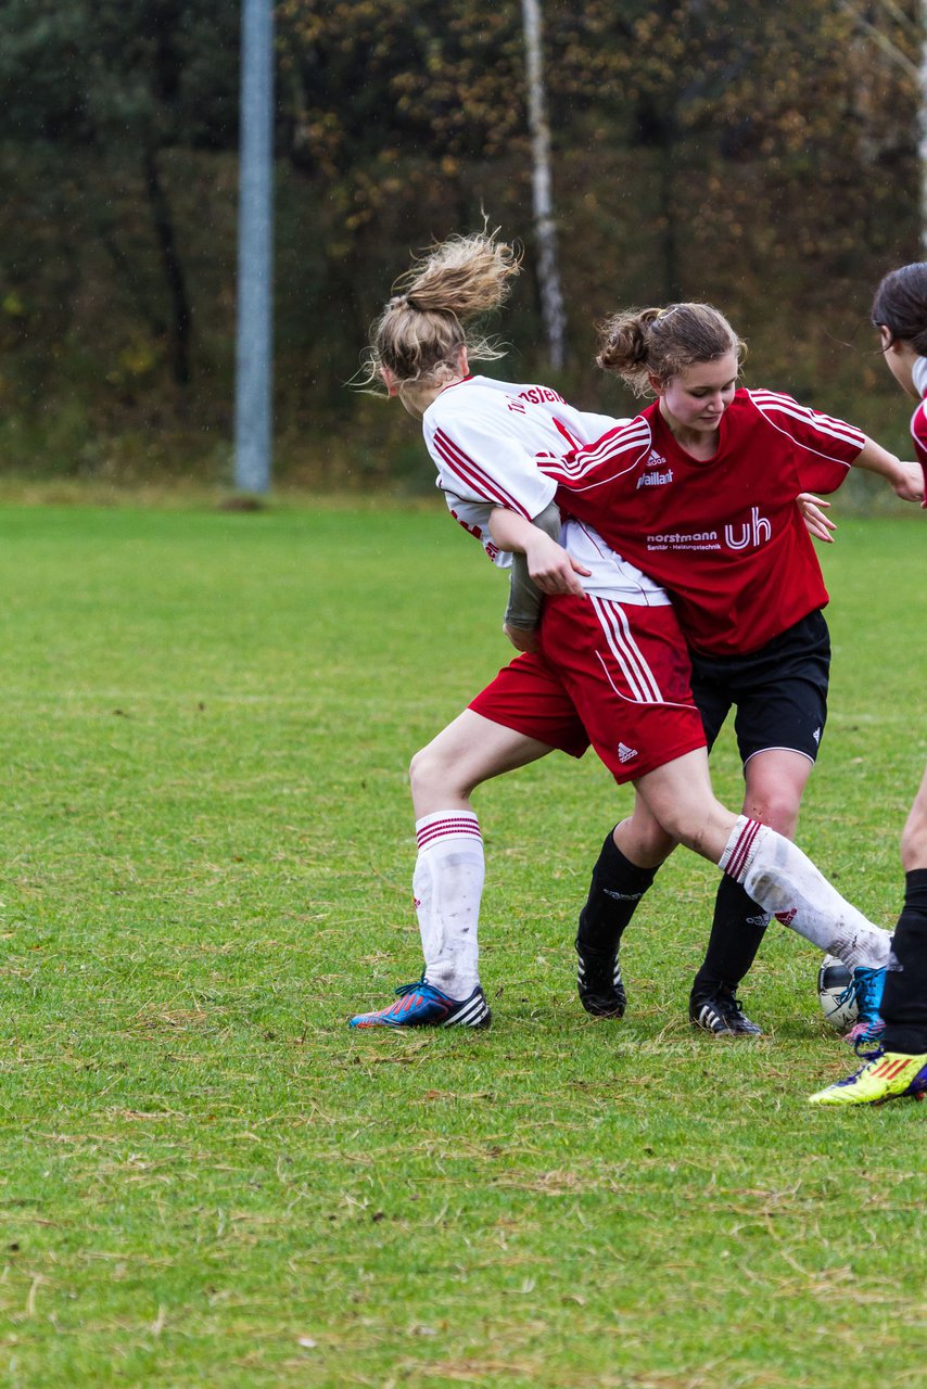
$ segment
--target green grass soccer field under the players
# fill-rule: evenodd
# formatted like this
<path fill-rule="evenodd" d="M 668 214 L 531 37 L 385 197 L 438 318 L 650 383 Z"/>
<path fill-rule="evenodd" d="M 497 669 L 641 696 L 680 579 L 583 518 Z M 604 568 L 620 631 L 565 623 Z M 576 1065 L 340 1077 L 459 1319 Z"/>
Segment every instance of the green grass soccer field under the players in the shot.
<path fill-rule="evenodd" d="M 0 510 L 0 1382 L 917 1389 L 927 1104 L 849 1070 L 770 932 L 766 1036 L 688 1026 L 716 874 L 682 853 L 574 989 L 627 807 L 591 758 L 478 795 L 486 1033 L 361 1035 L 418 974 L 410 754 L 507 660 L 438 510 Z M 826 554 L 802 845 L 889 925 L 927 756 L 927 518 Z M 730 742 L 716 785 L 731 803 Z"/>

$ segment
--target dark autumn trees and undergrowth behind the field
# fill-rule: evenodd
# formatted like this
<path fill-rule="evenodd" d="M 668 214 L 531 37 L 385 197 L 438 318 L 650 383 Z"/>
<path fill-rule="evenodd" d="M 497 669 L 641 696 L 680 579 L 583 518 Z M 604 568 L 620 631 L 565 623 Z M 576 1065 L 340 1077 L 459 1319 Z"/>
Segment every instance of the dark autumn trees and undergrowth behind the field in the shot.
<path fill-rule="evenodd" d="M 595 319 L 705 297 L 748 336 L 767 383 L 878 424 L 888 392 L 869 292 L 919 256 L 919 11 L 542 7 L 566 300 L 555 383 L 627 407 L 591 371 Z M 170 467 L 172 454 L 220 465 L 239 18 L 211 0 L 6 0 L 7 468 Z M 528 274 L 500 324 L 504 369 L 550 375 L 521 3 L 281 0 L 275 21 L 278 458 L 334 481 L 413 474 L 392 413 L 345 389 L 410 249 L 484 211 L 521 238 Z"/>

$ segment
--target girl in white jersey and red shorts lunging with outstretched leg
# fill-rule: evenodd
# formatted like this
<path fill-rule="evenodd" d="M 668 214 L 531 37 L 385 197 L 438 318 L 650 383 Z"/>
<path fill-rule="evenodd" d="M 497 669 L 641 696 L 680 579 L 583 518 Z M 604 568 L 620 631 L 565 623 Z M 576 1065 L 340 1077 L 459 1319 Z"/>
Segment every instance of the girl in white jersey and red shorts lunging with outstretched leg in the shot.
<path fill-rule="evenodd" d="M 495 236 L 452 239 L 404 278 L 374 329 L 370 378 L 382 375 L 389 393 L 423 418 L 438 467 L 450 460 L 456 478 L 467 476 L 475 496 L 492 500 L 492 544 L 524 550 L 550 596 L 541 650 L 500 671 L 413 758 L 413 890 L 425 970 L 418 983 L 396 990 L 395 1003 L 352 1018 L 352 1026 L 488 1024 L 477 946 L 484 854 L 471 792 L 553 749 L 581 756 L 589 742 L 617 782 L 634 782 L 666 835 L 710 858 L 766 911 L 856 974 L 878 974 L 888 933 L 787 839 L 714 799 L 688 653 L 662 590 L 589 526 L 584 565 L 531 525 L 553 492 L 539 483 L 538 461 L 556 458 L 564 443 L 584 443 L 602 419 L 545 388 L 470 375 L 470 358 L 498 353 L 467 325 L 502 301 L 516 271 L 517 258 Z"/>

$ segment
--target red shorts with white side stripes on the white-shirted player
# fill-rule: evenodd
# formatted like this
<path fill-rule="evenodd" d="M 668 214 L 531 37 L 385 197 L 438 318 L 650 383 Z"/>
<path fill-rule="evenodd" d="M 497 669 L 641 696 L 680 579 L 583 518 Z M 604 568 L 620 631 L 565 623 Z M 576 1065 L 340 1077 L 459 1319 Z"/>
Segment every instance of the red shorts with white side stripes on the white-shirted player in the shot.
<path fill-rule="evenodd" d="M 470 704 L 571 757 L 589 743 L 616 782 L 705 747 L 673 608 L 548 597 L 541 651 L 518 656 Z"/>

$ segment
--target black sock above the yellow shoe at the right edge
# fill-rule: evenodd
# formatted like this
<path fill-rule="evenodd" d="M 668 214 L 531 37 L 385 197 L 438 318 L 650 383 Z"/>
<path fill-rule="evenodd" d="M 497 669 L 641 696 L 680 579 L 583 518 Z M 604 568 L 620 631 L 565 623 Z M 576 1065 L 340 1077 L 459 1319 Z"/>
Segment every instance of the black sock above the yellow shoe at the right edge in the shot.
<path fill-rule="evenodd" d="M 880 1013 L 887 1051 L 927 1051 L 927 868 L 905 875 L 905 906 L 892 936 Z"/>

